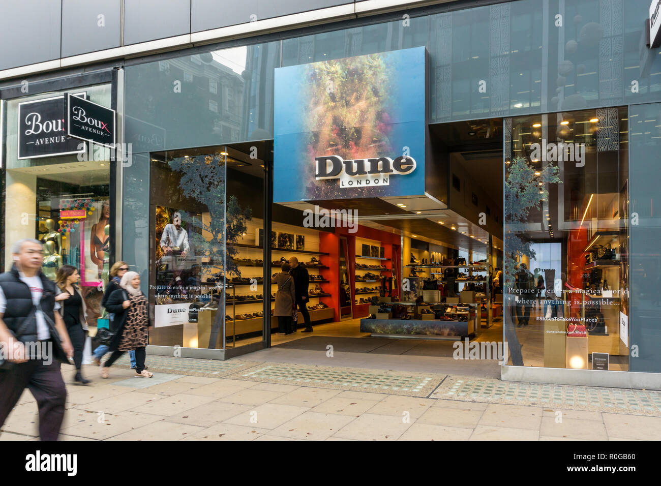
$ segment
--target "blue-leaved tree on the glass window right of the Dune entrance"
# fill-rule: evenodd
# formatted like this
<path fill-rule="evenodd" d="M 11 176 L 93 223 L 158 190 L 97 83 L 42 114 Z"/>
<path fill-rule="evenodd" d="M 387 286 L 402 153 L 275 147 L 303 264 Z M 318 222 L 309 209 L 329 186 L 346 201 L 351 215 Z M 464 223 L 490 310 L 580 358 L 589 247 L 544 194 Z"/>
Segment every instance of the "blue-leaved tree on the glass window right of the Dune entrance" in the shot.
<path fill-rule="evenodd" d="M 539 175 L 535 173 L 539 172 Z M 505 177 L 505 231 L 504 231 L 504 288 L 514 287 L 516 266 L 520 257 L 524 255 L 529 259 L 535 258 L 535 251 L 527 239 L 524 239 L 525 224 L 529 223 L 528 216 L 531 210 L 539 208 L 543 200 L 549 199 L 548 184 L 560 184 L 559 169 L 555 165 L 547 165 L 537 171 L 527 159 L 517 157 L 512 160 Z M 542 182 L 542 185 L 539 185 Z M 514 309 L 514 296 L 504 292 L 504 325 L 505 338 L 512 354 L 512 364 L 523 366 L 521 344 L 516 336 L 512 309 Z M 527 298 L 527 296 L 525 296 Z M 509 319 L 508 319 L 509 317 Z"/>

